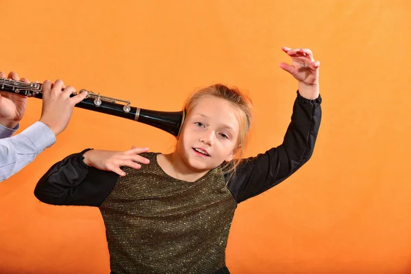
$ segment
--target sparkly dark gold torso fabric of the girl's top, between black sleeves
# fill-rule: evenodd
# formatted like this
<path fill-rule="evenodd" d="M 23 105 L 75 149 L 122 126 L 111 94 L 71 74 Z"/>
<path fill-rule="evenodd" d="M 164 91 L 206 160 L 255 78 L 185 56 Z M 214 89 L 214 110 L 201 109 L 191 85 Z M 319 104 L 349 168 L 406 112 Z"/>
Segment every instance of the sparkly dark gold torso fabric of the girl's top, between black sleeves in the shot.
<path fill-rule="evenodd" d="M 112 273 L 212 274 L 225 266 L 237 203 L 221 168 L 196 182 L 175 179 L 150 164 L 125 167 L 125 177 L 100 206 Z"/>

